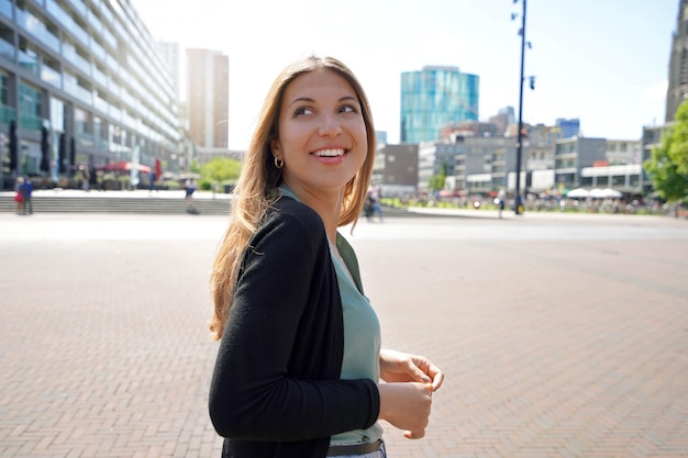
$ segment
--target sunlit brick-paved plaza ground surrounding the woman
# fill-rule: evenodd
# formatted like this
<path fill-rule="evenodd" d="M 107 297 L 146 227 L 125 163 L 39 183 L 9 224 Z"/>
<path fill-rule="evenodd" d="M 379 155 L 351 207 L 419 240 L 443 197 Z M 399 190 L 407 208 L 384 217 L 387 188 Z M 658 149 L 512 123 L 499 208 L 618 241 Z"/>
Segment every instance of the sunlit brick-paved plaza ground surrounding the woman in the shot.
<path fill-rule="evenodd" d="M 219 457 L 215 216 L 0 214 L 0 458 Z M 348 236 L 348 232 L 345 232 Z M 688 457 L 688 222 L 362 221 L 386 347 L 446 371 L 390 458 Z"/>

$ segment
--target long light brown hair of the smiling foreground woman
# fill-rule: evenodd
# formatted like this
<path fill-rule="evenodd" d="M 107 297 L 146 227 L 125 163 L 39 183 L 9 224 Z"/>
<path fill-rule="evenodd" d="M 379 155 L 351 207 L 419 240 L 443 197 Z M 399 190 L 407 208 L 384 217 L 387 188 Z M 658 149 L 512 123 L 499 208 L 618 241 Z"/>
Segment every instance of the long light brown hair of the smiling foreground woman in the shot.
<path fill-rule="evenodd" d="M 351 69 L 333 57 L 309 56 L 296 60 L 279 74 L 267 93 L 257 127 L 246 152 L 242 172 L 232 192 L 230 225 L 224 233 L 210 277 L 214 302 L 210 331 L 215 340 L 220 339 L 224 332 L 244 250 L 258 230 L 260 219 L 278 197 L 277 187 L 281 177 L 279 169 L 275 166 L 270 142 L 279 137 L 279 112 L 285 90 L 299 76 L 322 69 L 336 72 L 356 91 L 368 141 L 368 153 L 363 166 L 346 183 L 339 225 L 353 223 L 355 226 L 363 210 L 376 150 L 373 115 L 365 91 Z"/>

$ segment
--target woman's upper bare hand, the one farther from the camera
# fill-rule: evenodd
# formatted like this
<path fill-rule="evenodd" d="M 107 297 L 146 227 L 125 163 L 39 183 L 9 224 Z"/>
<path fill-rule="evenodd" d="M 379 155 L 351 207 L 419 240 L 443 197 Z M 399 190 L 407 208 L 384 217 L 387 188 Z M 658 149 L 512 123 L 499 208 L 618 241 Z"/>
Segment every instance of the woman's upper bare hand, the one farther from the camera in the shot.
<path fill-rule="evenodd" d="M 389 383 L 428 383 L 434 392 L 442 386 L 444 372 L 424 356 L 382 349 L 380 378 Z"/>

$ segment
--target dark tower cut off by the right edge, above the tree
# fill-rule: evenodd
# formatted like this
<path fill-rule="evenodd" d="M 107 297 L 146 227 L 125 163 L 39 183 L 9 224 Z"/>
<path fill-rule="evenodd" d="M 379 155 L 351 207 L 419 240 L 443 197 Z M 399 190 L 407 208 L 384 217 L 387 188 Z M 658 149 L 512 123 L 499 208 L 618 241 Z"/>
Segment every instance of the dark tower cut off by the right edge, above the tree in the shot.
<path fill-rule="evenodd" d="M 676 110 L 686 94 L 688 94 L 688 0 L 680 0 L 669 59 L 666 122 L 674 121 Z"/>

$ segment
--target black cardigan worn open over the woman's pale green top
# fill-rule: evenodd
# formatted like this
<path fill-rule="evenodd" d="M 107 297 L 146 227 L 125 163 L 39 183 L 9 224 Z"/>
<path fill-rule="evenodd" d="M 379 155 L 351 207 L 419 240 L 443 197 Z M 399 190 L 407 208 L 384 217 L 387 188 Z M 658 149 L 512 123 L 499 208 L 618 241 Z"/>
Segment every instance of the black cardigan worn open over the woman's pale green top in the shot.
<path fill-rule="evenodd" d="M 353 249 L 339 236 L 342 253 Z M 353 266 L 352 266 L 353 264 Z M 324 225 L 282 197 L 243 258 L 209 407 L 223 457 L 325 457 L 330 436 L 370 427 L 373 380 L 340 380 L 342 300 Z"/>

